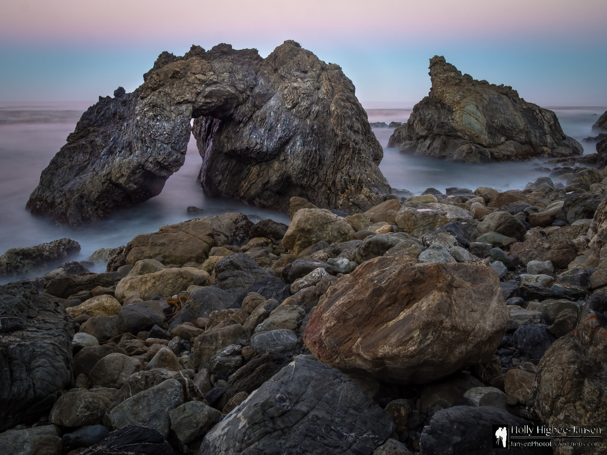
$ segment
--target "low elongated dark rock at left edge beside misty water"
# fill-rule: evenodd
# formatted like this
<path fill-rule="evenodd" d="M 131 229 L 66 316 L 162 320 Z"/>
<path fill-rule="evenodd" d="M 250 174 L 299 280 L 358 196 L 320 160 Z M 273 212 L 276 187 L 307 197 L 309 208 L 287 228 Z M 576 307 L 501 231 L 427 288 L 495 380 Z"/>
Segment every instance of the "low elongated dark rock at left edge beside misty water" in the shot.
<path fill-rule="evenodd" d="M 9 248 L 0 256 L 0 276 L 16 277 L 29 274 L 36 269 L 56 265 L 70 254 L 78 252 L 80 243 L 69 238 L 24 248 Z"/>

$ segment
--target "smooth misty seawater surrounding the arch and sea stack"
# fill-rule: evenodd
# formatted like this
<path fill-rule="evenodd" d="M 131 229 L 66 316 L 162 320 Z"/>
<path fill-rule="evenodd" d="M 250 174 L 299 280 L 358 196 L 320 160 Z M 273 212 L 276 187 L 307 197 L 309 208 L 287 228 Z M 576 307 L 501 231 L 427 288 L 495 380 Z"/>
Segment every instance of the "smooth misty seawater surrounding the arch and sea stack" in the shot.
<path fill-rule="evenodd" d="M 366 103 L 364 106 L 370 122 L 390 123 L 407 121 L 412 104 L 395 107 L 393 104 Z M 63 146 L 87 107 L 89 103 L 0 103 L 0 254 L 12 247 L 33 246 L 69 237 L 78 241 L 82 248 L 80 254 L 70 260 L 86 260 L 97 248 L 114 248 L 126 244 L 137 234 L 157 231 L 165 224 L 192 218 L 186 213 L 188 206 L 205 209 L 205 215 L 243 212 L 256 215 L 251 217 L 254 221 L 272 218 L 288 224 L 287 214 L 206 196 L 196 181 L 201 161 L 193 138 L 188 144 L 183 167 L 169 178 L 161 194 L 151 200 L 121 209 L 106 220 L 78 231 L 49 224 L 44 218 L 32 217 L 25 210 L 25 203 L 38 184 L 40 172 Z M 565 133 L 580 142 L 591 135 L 592 123 L 605 109 L 552 108 Z M 406 155 L 387 148 L 392 131 L 388 128 L 373 129 L 384 147 L 384 160 L 379 167 L 394 188 L 416 194 L 421 194 L 428 187 L 442 192 L 452 186 L 470 189 L 490 186 L 506 190 L 523 188 L 529 181 L 548 175 L 548 172 L 534 170 L 533 161 L 460 164 Z M 585 153 L 594 153 L 594 143 L 582 142 L 582 145 Z M 544 166 L 545 161 L 541 159 L 538 162 Z M 104 266 L 97 266 L 92 270 L 101 272 L 104 269 Z"/>

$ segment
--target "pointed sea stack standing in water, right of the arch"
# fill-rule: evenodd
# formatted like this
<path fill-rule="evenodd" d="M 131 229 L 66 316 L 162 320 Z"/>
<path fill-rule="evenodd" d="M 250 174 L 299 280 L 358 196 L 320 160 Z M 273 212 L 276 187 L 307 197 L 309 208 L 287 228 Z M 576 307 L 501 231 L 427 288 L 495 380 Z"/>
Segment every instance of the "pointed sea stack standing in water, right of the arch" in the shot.
<path fill-rule="evenodd" d="M 466 163 L 582 154 L 554 112 L 527 103 L 512 87 L 462 75 L 438 55 L 430 59 L 429 74 L 429 95 L 396 128 L 388 147 Z"/>

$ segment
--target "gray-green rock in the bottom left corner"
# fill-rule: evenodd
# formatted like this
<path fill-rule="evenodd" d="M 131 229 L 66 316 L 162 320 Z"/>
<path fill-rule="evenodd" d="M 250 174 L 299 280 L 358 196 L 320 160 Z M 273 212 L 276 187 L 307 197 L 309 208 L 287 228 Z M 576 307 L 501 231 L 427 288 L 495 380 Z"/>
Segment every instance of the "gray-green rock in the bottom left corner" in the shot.
<path fill-rule="evenodd" d="M 0 433 L 2 451 L 10 455 L 61 455 L 63 439 L 56 425 L 36 426 Z"/>

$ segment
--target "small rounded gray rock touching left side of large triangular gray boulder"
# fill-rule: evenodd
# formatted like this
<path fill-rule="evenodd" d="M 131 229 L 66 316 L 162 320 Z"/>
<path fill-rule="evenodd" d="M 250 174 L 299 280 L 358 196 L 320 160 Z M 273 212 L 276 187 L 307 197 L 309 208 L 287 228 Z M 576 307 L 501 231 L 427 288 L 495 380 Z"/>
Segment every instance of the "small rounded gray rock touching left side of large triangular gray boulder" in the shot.
<path fill-rule="evenodd" d="M 222 413 L 199 401 L 183 403 L 169 413 L 171 429 L 182 444 L 188 444 L 205 436 L 215 423 L 222 419 Z"/>

